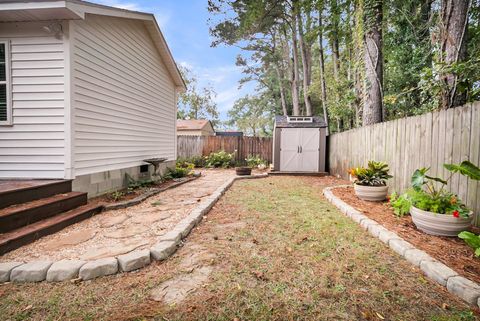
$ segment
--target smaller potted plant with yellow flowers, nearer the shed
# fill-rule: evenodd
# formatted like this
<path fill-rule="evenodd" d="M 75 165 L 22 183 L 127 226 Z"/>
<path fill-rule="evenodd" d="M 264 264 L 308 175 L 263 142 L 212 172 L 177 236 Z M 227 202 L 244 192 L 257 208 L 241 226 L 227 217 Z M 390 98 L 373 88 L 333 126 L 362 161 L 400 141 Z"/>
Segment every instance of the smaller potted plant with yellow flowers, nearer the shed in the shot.
<path fill-rule="evenodd" d="M 387 198 L 388 164 L 369 161 L 367 167 L 352 168 L 349 173 L 353 178 L 355 194 L 365 201 L 380 202 Z"/>

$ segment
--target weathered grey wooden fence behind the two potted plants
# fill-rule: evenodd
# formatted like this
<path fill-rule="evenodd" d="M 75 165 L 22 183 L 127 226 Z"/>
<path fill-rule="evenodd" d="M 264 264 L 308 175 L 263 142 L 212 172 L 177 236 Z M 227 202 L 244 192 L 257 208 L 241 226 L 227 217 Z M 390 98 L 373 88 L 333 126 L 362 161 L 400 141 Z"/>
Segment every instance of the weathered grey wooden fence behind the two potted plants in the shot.
<path fill-rule="evenodd" d="M 330 174 L 348 178 L 347 170 L 369 160 L 385 161 L 394 178 L 390 191 L 410 187 L 417 168 L 448 178 L 444 163 L 480 163 L 480 102 L 421 116 L 361 127 L 329 137 Z M 449 190 L 459 195 L 480 225 L 480 183 L 453 175 Z"/>

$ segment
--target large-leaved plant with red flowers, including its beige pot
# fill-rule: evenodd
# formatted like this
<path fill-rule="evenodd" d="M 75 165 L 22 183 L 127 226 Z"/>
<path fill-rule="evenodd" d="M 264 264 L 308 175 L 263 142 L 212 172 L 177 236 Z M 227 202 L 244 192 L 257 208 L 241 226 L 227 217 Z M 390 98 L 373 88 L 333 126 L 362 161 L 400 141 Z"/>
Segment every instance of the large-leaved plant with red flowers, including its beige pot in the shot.
<path fill-rule="evenodd" d="M 446 191 L 445 186 L 455 173 L 480 180 L 480 169 L 469 161 L 443 166 L 451 173 L 446 180 L 428 176 L 428 168 L 417 169 L 413 173 L 413 190 L 409 193 L 412 204 L 410 215 L 415 226 L 427 234 L 457 236 L 470 228 L 473 212 L 457 195 Z"/>

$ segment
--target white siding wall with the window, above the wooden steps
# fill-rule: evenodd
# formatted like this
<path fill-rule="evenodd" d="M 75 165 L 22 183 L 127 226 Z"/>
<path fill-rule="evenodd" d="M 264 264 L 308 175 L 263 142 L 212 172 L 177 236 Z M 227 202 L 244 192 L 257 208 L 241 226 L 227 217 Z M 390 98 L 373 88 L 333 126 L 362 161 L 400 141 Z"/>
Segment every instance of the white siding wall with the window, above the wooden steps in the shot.
<path fill-rule="evenodd" d="M 13 108 L 12 125 L 0 125 L 0 178 L 64 178 L 64 43 L 48 24 L 0 23 Z"/>

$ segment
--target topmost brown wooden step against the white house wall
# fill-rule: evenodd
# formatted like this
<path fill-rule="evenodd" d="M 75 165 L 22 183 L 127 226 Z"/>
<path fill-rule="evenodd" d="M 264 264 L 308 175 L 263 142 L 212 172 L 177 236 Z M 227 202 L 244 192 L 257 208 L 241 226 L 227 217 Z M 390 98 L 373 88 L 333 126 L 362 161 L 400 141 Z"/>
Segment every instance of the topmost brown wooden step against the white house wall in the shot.
<path fill-rule="evenodd" d="M 0 180 L 0 208 L 72 191 L 72 180 Z"/>

